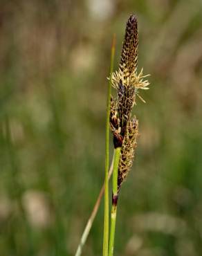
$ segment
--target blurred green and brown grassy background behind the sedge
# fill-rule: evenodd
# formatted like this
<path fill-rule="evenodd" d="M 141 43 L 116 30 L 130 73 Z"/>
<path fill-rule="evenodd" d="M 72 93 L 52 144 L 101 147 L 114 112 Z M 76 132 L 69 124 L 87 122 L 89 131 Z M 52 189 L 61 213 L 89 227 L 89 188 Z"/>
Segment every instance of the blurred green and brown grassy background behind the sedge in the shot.
<path fill-rule="evenodd" d="M 115 255 L 202 255 L 202 2 L 1 0 L 0 255 L 74 255 L 104 180 L 110 48 L 138 17 L 150 90 Z M 113 147 L 111 145 L 111 152 Z M 103 201 L 83 255 L 102 255 Z"/>

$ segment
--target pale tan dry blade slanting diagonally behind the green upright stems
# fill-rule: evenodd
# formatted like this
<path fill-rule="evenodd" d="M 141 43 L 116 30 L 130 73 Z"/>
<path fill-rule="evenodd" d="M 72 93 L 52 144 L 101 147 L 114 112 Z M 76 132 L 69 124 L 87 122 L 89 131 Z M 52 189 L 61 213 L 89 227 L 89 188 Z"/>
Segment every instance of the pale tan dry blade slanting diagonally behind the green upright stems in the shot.
<path fill-rule="evenodd" d="M 111 167 L 109 169 L 108 179 L 111 178 L 112 172 L 113 172 L 113 161 L 111 162 Z M 82 255 L 82 248 L 83 248 L 84 244 L 86 243 L 86 239 L 89 236 L 89 232 L 91 230 L 91 226 L 93 225 L 93 221 L 95 219 L 95 216 L 96 216 L 96 214 L 98 212 L 98 208 L 100 206 L 100 201 L 102 199 L 103 194 L 104 194 L 104 184 L 102 185 L 102 188 L 101 188 L 100 193 L 98 195 L 98 199 L 97 199 L 97 201 L 96 201 L 96 203 L 94 205 L 93 211 L 91 212 L 91 216 L 89 217 L 89 220 L 86 223 L 86 227 L 85 227 L 84 232 L 82 234 L 82 237 L 80 239 L 80 244 L 77 247 L 77 251 L 75 253 L 75 256 Z"/>

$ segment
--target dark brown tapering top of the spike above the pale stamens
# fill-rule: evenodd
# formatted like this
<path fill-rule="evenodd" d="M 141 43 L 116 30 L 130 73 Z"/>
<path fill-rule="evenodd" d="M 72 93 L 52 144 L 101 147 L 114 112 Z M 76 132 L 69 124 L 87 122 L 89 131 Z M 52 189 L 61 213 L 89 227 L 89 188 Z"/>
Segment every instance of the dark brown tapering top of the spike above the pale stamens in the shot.
<path fill-rule="evenodd" d="M 135 15 L 131 15 L 127 21 L 125 39 L 122 44 L 120 69 L 132 73 L 138 66 L 138 23 Z"/>

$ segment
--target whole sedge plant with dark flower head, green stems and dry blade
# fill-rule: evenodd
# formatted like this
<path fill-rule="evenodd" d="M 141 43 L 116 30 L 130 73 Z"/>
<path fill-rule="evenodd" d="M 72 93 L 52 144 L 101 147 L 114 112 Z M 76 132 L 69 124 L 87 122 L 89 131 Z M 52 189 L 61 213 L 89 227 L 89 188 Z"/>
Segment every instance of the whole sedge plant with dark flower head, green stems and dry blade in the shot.
<path fill-rule="evenodd" d="M 143 75 L 143 68 L 137 72 L 138 66 L 138 23 L 135 15 L 130 15 L 125 31 L 125 39 L 122 44 L 122 53 L 118 71 L 113 73 L 113 60 L 115 54 L 115 36 L 111 46 L 111 66 L 108 83 L 107 97 L 107 122 L 105 137 L 105 178 L 104 185 L 91 213 L 86 228 L 84 229 L 80 244 L 75 256 L 80 256 L 82 247 L 89 235 L 93 220 L 98 212 L 102 195 L 104 194 L 104 236 L 103 256 L 113 256 L 114 238 L 116 233 L 116 212 L 118 196 L 122 183 L 127 178 L 134 161 L 136 139 L 138 137 L 138 119 L 132 116 L 132 110 L 136 104 L 136 96 L 143 102 L 139 89 L 149 89 L 148 80 Z M 111 95 L 111 85 L 116 91 L 116 96 Z M 109 171 L 109 127 L 113 134 L 113 161 Z M 112 179 L 112 205 L 111 227 L 109 233 L 109 179 Z"/>

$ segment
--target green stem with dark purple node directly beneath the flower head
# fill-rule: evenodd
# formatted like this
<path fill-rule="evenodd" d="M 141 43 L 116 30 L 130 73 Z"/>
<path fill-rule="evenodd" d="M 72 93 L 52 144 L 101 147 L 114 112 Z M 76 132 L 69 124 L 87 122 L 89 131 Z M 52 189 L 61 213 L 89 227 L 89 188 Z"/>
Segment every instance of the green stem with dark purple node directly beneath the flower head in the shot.
<path fill-rule="evenodd" d="M 110 239 L 109 239 L 109 256 L 113 256 L 113 244 L 116 229 L 116 210 L 118 201 L 118 163 L 120 158 L 120 149 L 117 147 L 114 149 L 113 157 L 113 180 L 112 180 L 112 206 L 111 206 L 111 228 L 110 228 Z"/>

